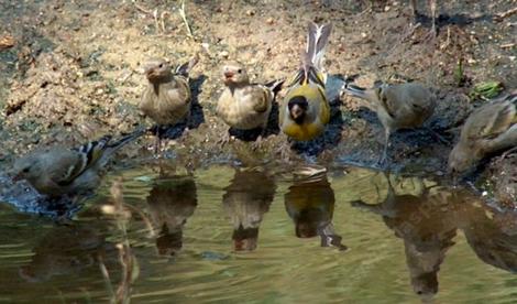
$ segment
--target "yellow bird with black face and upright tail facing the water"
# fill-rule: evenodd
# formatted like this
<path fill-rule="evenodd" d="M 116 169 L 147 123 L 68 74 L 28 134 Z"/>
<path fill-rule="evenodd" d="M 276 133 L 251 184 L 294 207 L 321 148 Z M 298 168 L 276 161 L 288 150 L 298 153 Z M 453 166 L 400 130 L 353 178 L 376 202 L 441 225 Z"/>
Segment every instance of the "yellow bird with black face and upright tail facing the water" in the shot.
<path fill-rule="evenodd" d="M 322 73 L 322 63 L 331 30 L 331 23 L 309 23 L 301 67 L 288 85 L 288 91 L 279 106 L 280 130 L 297 141 L 317 138 L 330 120 L 330 105 L 324 91 L 327 76 Z"/>

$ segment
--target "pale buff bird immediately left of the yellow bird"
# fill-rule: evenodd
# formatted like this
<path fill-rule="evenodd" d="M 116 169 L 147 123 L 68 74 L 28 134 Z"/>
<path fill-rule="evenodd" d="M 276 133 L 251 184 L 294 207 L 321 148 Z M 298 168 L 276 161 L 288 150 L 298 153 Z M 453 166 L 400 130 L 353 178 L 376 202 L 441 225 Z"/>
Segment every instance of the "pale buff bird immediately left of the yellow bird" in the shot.
<path fill-rule="evenodd" d="M 246 68 L 239 62 L 227 63 L 222 67 L 224 90 L 217 104 L 217 115 L 230 128 L 252 130 L 262 128 L 262 139 L 276 94 L 284 80 L 265 85 L 250 83 Z"/>

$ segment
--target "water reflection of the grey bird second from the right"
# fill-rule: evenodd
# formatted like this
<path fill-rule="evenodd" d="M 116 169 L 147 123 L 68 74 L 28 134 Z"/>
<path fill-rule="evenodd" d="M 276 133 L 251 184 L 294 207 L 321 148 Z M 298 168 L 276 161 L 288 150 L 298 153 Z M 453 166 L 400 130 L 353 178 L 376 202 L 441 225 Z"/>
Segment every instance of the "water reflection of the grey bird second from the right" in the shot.
<path fill-rule="evenodd" d="M 404 240 L 413 289 L 422 300 L 430 300 L 438 292 L 438 272 L 457 235 L 453 205 L 448 203 L 451 193 L 420 178 L 408 178 L 394 187 L 386 177 L 384 202 L 370 205 L 355 200 L 352 206 L 382 216 Z"/>

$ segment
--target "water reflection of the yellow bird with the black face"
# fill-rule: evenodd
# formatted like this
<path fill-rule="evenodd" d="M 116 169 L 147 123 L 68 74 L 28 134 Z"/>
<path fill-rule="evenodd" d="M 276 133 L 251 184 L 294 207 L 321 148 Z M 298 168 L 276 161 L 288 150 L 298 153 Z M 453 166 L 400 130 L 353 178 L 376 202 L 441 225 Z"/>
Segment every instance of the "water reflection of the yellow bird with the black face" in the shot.
<path fill-rule="evenodd" d="M 332 225 L 336 197 L 326 175 L 296 181 L 284 199 L 287 214 L 295 222 L 298 238 L 320 236 L 321 247 L 334 246 L 340 250 L 346 249 Z"/>

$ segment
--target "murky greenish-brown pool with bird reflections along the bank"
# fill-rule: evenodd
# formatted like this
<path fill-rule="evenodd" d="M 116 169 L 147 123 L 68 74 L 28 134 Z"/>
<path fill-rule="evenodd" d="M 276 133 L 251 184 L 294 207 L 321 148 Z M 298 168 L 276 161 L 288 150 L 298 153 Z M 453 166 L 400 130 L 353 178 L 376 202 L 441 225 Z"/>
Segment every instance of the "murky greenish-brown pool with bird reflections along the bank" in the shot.
<path fill-rule="evenodd" d="M 517 215 L 464 189 L 363 169 L 120 175 L 118 216 L 114 175 L 62 225 L 0 205 L 0 302 L 517 301 Z"/>

